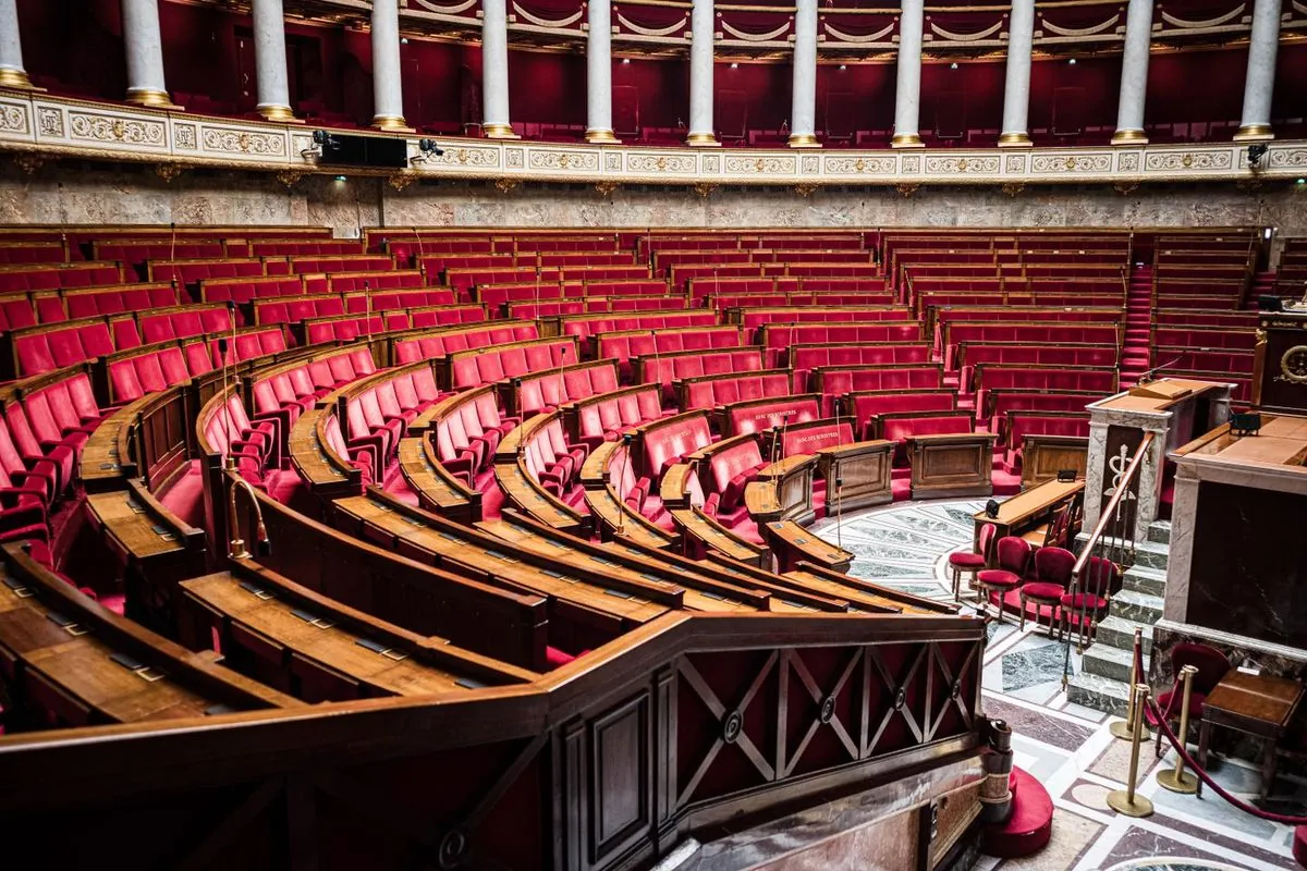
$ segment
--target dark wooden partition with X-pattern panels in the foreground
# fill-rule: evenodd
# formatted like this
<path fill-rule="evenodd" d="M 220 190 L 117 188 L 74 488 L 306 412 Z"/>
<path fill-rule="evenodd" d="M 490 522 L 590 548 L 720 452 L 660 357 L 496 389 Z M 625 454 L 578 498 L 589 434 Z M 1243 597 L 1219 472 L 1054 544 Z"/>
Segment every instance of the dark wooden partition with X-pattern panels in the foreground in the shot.
<path fill-rule="evenodd" d="M 983 644 L 678 612 L 527 688 L 5 736 L 0 836 L 71 867 L 633 867 L 972 759 Z"/>

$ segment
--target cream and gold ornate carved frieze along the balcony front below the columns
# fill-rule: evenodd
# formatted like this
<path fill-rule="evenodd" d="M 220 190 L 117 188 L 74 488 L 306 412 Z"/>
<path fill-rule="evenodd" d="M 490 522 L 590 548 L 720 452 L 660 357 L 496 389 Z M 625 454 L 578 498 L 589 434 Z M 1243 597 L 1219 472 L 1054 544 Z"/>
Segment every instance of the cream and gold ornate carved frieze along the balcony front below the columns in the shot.
<path fill-rule="evenodd" d="M 1274 140 L 1257 167 L 1238 142 L 1127 145 L 1021 150 L 923 150 L 911 154 L 831 149 L 642 148 L 599 144 L 489 141 L 442 137 L 443 154 L 408 167 L 400 178 L 511 178 L 588 184 L 686 184 L 711 192 L 723 184 L 775 184 L 816 189 L 826 184 L 887 185 L 907 192 L 923 184 L 1026 185 L 1031 183 L 1141 184 L 1227 180 L 1266 183 L 1307 170 L 1307 142 Z M 301 125 L 246 121 L 101 104 L 43 93 L 0 97 L 0 149 L 48 157 L 95 157 L 187 167 L 234 166 L 285 174 L 333 172 L 319 166 L 312 132 Z M 417 153 L 416 138 L 409 153 Z M 369 171 L 363 170 L 363 174 Z M 392 170 L 372 175 L 393 174 Z M 290 178 L 288 175 L 288 178 Z M 1014 188 L 1019 189 L 1019 188 Z"/>

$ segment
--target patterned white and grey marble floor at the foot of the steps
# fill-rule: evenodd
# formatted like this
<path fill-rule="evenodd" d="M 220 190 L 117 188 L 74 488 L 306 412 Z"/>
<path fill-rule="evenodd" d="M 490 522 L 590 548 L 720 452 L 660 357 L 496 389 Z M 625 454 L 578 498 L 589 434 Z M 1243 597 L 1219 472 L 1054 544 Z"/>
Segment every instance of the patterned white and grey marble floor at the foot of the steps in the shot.
<path fill-rule="evenodd" d="M 852 575 L 932 598 L 951 597 L 948 556 L 970 550 L 971 516 L 983 500 L 899 503 L 823 520 L 813 531 L 856 554 Z M 972 607 L 968 605 L 968 607 Z M 983 708 L 1016 733 L 1016 763 L 1038 777 L 1053 798 L 1050 845 L 1021 861 L 984 858 L 979 871 L 1266 871 L 1297 868 L 1293 829 L 1226 804 L 1210 790 L 1204 798 L 1176 795 L 1157 784 L 1174 753 L 1157 760 L 1151 744 L 1140 760 L 1138 793 L 1154 802 L 1146 819 L 1120 816 L 1106 797 L 1123 789 L 1129 746 L 1107 731 L 1104 714 L 1067 701 L 1061 691 L 1065 648 L 1009 615 L 989 626 L 984 657 Z M 1072 650 L 1072 669 L 1080 666 Z M 1213 763 L 1217 780 L 1240 795 L 1256 795 L 1257 772 L 1238 760 Z M 1293 791 L 1281 812 L 1307 812 L 1307 782 L 1277 781 L 1277 797 Z"/>

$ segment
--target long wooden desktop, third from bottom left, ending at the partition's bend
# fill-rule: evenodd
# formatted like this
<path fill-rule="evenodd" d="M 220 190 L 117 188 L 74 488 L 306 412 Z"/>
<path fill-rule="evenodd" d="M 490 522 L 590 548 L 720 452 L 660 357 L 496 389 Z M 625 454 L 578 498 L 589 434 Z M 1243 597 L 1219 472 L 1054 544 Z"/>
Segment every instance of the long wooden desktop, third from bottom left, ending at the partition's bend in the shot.
<path fill-rule="evenodd" d="M 667 606 L 651 602 L 647 598 L 630 593 L 616 595 L 595 584 L 583 581 L 579 577 L 529 565 L 514 558 L 511 554 L 497 555 L 497 552 L 491 552 L 490 548 L 486 548 L 480 542 L 473 542 L 456 534 L 437 531 L 429 526 L 417 526 L 403 515 L 389 511 L 386 507 L 371 501 L 366 496 L 339 499 L 336 505 L 342 511 L 348 511 L 362 520 L 376 524 L 382 529 L 395 533 L 397 537 L 425 547 L 426 550 L 439 554 L 440 556 L 457 560 L 471 568 L 503 577 L 532 589 L 541 595 L 550 595 L 558 599 L 576 602 L 578 605 L 584 605 L 587 607 L 639 623 L 652 620 L 654 618 L 668 611 Z M 558 554 L 552 555 L 563 559 Z M 583 555 L 576 556 L 584 559 Z M 569 558 L 567 562 L 576 564 L 582 560 Z M 597 565 L 597 568 L 592 571 L 601 571 L 610 576 L 617 575 L 617 572 L 610 571 L 612 568 L 614 567 Z M 633 577 L 623 577 L 623 580 L 644 586 L 654 582 L 657 586 L 672 589 L 672 585 L 663 580 L 651 581 L 650 578 L 643 578 L 634 573 L 631 575 Z"/>

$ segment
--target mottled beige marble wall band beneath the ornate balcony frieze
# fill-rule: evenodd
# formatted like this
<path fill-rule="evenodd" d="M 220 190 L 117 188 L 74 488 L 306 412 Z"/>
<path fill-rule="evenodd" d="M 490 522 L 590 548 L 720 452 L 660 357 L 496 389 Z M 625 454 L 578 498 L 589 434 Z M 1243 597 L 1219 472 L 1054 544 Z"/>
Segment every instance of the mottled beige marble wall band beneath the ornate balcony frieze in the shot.
<path fill-rule="evenodd" d="M 268 174 L 188 170 L 165 182 L 152 166 L 47 163 L 31 175 L 0 168 L 0 223 L 325 225 L 538 227 L 1201 227 L 1278 226 L 1307 235 L 1307 193 L 1294 185 L 1248 192 L 1234 184 L 1111 187 L 831 188 L 808 197 L 789 187 L 622 187 L 605 196 L 583 184 L 420 182 L 308 176 L 291 187 Z"/>

